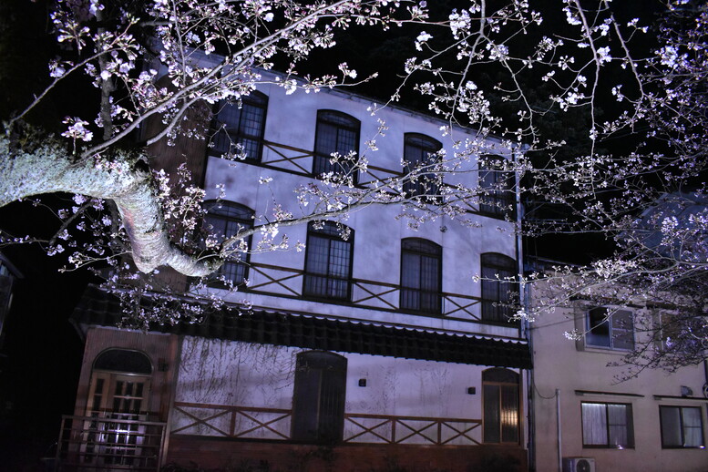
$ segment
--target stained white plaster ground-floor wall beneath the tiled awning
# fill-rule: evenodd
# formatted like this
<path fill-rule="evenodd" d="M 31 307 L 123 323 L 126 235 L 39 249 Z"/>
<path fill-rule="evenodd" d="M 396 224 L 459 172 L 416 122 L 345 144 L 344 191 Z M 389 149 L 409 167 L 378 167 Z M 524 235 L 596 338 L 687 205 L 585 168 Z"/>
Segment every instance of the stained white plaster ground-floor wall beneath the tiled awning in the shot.
<path fill-rule="evenodd" d="M 180 372 L 176 388 L 177 408 L 172 415 L 172 430 L 182 434 L 222 436 L 231 427 L 228 407 L 292 408 L 294 366 L 296 355 L 303 349 L 207 340 L 184 337 L 181 343 Z M 409 436 L 413 429 L 423 428 L 405 440 L 411 444 L 429 444 L 436 440 L 437 426 L 431 419 L 442 418 L 447 425 L 466 430 L 468 437 L 458 436 L 449 426 L 443 426 L 442 436 L 448 444 L 473 444 L 482 441 L 482 428 L 475 421 L 482 419 L 482 371 L 480 365 L 437 363 L 366 354 L 338 353 L 347 359 L 345 412 L 354 415 L 347 421 L 344 438 L 362 432 L 361 426 L 375 426 L 382 419 L 355 415 L 401 416 L 397 437 Z M 365 379 L 366 386 L 359 386 Z M 469 395 L 468 387 L 476 394 Z M 183 404 L 202 404 L 184 406 Z M 210 406 L 203 406 L 203 405 Z M 247 411 L 261 421 L 282 414 Z M 405 419 L 408 417 L 408 419 Z M 195 418 L 203 423 L 195 424 Z M 452 421 L 458 420 L 458 421 Z M 255 426 L 245 416 L 235 416 L 236 431 Z M 194 425 L 186 427 L 189 425 Z M 287 436 L 290 418 L 271 425 Z M 186 429 L 184 429 L 186 428 Z M 413 429 L 411 429 L 413 428 Z M 379 435 L 390 435 L 390 425 L 376 429 Z M 403 435 L 403 436 L 401 436 Z M 454 438 L 457 436 L 457 438 Z M 279 438 L 266 428 L 259 428 L 248 437 Z M 426 439 L 427 437 L 427 439 Z M 282 438 L 282 437 L 281 437 Z M 357 438 L 358 442 L 381 442 L 371 434 Z"/>

